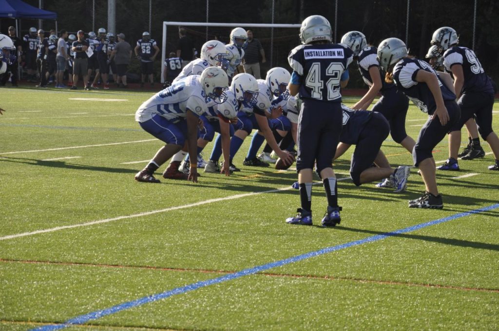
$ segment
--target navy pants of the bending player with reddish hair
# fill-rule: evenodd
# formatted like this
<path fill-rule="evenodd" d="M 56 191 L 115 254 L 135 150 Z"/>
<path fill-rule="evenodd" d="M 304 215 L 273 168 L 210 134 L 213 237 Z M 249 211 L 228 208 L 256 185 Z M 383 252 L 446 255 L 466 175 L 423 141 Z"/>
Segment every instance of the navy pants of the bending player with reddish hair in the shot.
<path fill-rule="evenodd" d="M 419 132 L 418 140 L 412 150 L 412 158 L 415 166 L 419 166 L 421 161 L 433 158 L 433 149 L 444 137 L 451 132 L 453 126 L 459 121 L 461 110 L 454 100 L 445 101 L 445 107 L 449 113 L 449 122 L 445 126 L 440 124 L 438 118 L 432 120 L 430 116 L 428 121 Z"/>

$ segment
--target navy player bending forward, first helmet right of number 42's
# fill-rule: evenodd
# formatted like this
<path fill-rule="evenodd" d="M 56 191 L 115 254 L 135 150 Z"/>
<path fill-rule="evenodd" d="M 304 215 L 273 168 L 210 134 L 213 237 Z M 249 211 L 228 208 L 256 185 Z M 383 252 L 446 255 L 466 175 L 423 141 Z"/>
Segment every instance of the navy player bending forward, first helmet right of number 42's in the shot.
<path fill-rule="evenodd" d="M 369 91 L 353 105 L 352 109 L 369 109 L 374 98 L 378 93 L 381 93 L 381 98 L 371 110 L 385 116 L 390 123 L 390 134 L 393 141 L 412 153 L 415 142 L 405 130 L 409 100 L 404 93 L 397 90 L 394 84 L 384 81 L 379 63 L 376 60 L 376 47 L 367 46 L 366 37 L 359 31 L 347 32 L 341 38 L 341 42 L 352 49 L 362 79 L 369 86 Z M 390 178 L 386 178 L 376 186 L 392 187 L 392 183 Z"/>

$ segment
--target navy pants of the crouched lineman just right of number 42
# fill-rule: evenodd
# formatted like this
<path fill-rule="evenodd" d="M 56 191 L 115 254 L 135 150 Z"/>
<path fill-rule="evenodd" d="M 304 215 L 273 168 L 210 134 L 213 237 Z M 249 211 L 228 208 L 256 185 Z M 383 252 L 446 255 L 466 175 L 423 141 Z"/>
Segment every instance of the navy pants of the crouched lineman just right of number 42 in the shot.
<path fill-rule="evenodd" d="M 380 113 L 373 113 L 360 132 L 352 155 L 350 177 L 355 185 L 360 186 L 360 174 L 373 164 L 389 133 L 390 124 L 387 119 Z"/>

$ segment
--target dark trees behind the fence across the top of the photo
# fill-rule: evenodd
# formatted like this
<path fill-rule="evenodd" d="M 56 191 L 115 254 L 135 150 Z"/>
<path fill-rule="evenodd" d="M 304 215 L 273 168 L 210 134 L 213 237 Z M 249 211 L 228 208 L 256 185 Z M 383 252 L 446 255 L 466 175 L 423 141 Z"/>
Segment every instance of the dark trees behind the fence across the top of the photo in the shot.
<path fill-rule="evenodd" d="M 38 0 L 24 0 L 38 6 Z M 78 29 L 90 31 L 99 27 L 107 28 L 107 0 L 96 0 L 95 26 L 92 27 L 92 0 L 44 0 L 43 8 L 56 11 L 58 27 L 75 32 Z M 329 19 L 334 27 L 334 3 L 332 0 L 275 0 L 274 23 L 300 23 L 312 14 L 321 14 Z M 152 0 L 152 31 L 158 43 L 162 39 L 163 21 L 206 22 L 207 0 Z M 270 23 L 271 0 L 227 1 L 209 0 L 210 22 Z M 408 46 L 410 52 L 423 58 L 429 46 L 432 33 L 441 26 L 452 26 L 460 35 L 460 44 L 472 47 L 473 41 L 473 0 L 412 0 Z M 133 44 L 143 31 L 149 29 L 148 0 L 117 0 L 116 32 L 123 32 Z M 478 0 L 475 52 L 486 72 L 499 81 L 499 0 Z M 407 0 L 338 0 L 337 40 L 350 30 L 362 31 L 369 43 L 377 45 L 387 37 L 405 40 Z M 25 34 L 30 26 L 38 26 L 36 20 L 22 20 L 21 32 Z M 6 33 L 12 19 L 1 19 L 0 30 Z M 252 28 L 242 24 L 244 28 Z M 53 21 L 43 22 L 43 28 L 55 28 Z M 262 72 L 270 66 L 270 29 L 252 28 L 255 38 L 260 39 L 265 48 L 267 63 Z M 212 39 L 228 42 L 231 28 L 209 28 Z M 206 27 L 190 27 L 189 34 L 197 48 L 206 41 Z M 291 48 L 299 44 L 297 29 L 274 29 L 273 66 L 288 68 L 286 57 Z M 178 41 L 177 28 L 169 26 L 167 52 L 175 51 Z M 161 45 L 159 45 L 161 48 Z M 135 67 L 134 67 L 135 68 Z M 137 66 L 138 69 L 138 66 Z M 350 72 L 352 73 L 353 70 Z M 351 75 L 350 86 L 363 86 L 357 75 Z"/>

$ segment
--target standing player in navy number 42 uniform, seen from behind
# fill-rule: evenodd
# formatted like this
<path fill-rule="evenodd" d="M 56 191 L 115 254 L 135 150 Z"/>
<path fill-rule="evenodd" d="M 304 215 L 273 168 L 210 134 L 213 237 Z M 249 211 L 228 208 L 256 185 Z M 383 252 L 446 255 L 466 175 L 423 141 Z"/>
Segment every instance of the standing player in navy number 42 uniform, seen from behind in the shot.
<path fill-rule="evenodd" d="M 320 15 L 312 15 L 301 23 L 302 45 L 288 56 L 293 69 L 288 88 L 302 100 L 298 120 L 298 158 L 296 170 L 301 208 L 290 224 L 312 224 L 312 169 L 317 164 L 327 196 L 327 210 L 323 226 L 339 224 L 340 210 L 336 176 L 332 163 L 339 143 L 342 117 L 340 82 L 343 73 L 353 61 L 353 52 L 346 45 L 332 44 L 331 25 Z M 346 77 L 343 78 L 345 80 Z"/>

